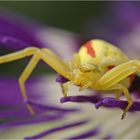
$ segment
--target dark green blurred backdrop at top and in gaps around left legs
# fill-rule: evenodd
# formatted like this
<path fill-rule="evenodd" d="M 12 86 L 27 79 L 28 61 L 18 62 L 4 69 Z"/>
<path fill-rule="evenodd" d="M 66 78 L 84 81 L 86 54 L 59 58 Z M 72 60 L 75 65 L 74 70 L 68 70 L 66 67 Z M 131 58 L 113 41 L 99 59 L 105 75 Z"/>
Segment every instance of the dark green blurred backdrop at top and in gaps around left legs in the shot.
<path fill-rule="evenodd" d="M 46 26 L 76 33 L 82 38 L 88 38 L 88 23 L 94 18 L 103 16 L 108 10 L 109 4 L 110 2 L 0 1 L 0 9 L 12 11 L 21 17 L 29 18 Z M 0 51 L 0 55 L 9 52 L 11 50 L 4 49 Z M 2 64 L 0 65 L 0 74 L 19 76 L 26 64 L 25 59 Z M 15 68 L 17 65 L 19 67 Z M 46 67 L 38 65 L 34 73 L 34 75 L 46 73 Z"/>

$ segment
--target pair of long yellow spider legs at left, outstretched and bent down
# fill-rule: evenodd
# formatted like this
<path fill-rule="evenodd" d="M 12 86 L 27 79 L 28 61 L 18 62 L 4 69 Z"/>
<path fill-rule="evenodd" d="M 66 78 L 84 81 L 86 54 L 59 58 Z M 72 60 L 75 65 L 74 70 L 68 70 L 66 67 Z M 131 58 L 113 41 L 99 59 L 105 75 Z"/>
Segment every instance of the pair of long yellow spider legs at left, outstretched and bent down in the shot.
<path fill-rule="evenodd" d="M 26 80 L 28 79 L 28 77 L 30 76 L 40 59 L 42 59 L 44 62 L 50 65 L 59 74 L 63 75 L 66 78 L 71 78 L 71 76 L 69 76 L 69 74 L 67 73 L 67 66 L 61 61 L 61 59 L 56 54 L 54 54 L 51 50 L 46 48 L 38 49 L 35 47 L 28 47 L 24 50 L 1 56 L 0 64 L 15 61 L 30 55 L 33 55 L 33 58 L 30 60 L 29 64 L 27 65 L 27 67 L 25 68 L 25 70 L 19 78 L 20 89 L 24 100 L 28 99 L 24 83 L 26 82 Z M 32 107 L 28 103 L 27 108 L 31 114 L 34 114 Z"/>

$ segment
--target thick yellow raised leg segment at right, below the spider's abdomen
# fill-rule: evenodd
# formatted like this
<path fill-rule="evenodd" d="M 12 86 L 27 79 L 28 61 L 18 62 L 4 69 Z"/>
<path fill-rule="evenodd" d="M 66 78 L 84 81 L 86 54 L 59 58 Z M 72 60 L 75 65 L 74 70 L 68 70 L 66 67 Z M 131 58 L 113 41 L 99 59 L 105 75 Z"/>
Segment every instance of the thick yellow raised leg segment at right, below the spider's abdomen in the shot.
<path fill-rule="evenodd" d="M 133 73 L 140 73 L 138 60 L 130 60 L 109 70 L 96 82 L 96 87 L 111 87 Z"/>

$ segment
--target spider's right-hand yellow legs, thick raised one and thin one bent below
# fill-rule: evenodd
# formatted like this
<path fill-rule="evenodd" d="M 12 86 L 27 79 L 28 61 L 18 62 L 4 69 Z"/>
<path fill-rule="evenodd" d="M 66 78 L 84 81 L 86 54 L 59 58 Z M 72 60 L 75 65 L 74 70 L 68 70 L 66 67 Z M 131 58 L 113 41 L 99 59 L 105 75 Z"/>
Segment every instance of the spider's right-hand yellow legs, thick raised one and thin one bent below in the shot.
<path fill-rule="evenodd" d="M 105 73 L 96 83 L 95 88 L 100 90 L 121 90 L 128 101 L 128 105 L 124 110 L 122 119 L 133 104 L 133 100 L 129 94 L 128 89 L 118 84 L 121 80 L 128 77 L 133 73 L 140 73 L 140 62 L 138 60 L 130 60 L 123 64 L 120 64 L 107 73 Z"/>

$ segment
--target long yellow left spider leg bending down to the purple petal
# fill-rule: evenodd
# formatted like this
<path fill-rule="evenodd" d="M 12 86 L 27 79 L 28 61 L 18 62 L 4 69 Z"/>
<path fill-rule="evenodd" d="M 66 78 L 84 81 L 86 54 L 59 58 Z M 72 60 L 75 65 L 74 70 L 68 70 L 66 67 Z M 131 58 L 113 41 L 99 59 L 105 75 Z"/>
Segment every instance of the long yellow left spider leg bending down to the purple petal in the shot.
<path fill-rule="evenodd" d="M 48 65 L 50 65 L 52 68 L 54 68 L 59 74 L 65 76 L 66 78 L 69 77 L 66 65 L 61 61 L 61 59 L 56 54 L 54 54 L 51 50 L 46 48 L 37 51 L 19 78 L 20 89 L 22 92 L 22 96 L 25 100 L 27 99 L 25 82 L 31 75 L 33 69 L 35 68 L 40 59 L 43 60 Z M 66 94 L 66 92 L 67 88 L 65 87 L 64 94 Z M 34 114 L 34 111 L 29 104 L 27 104 L 27 107 L 31 112 L 31 114 Z"/>

